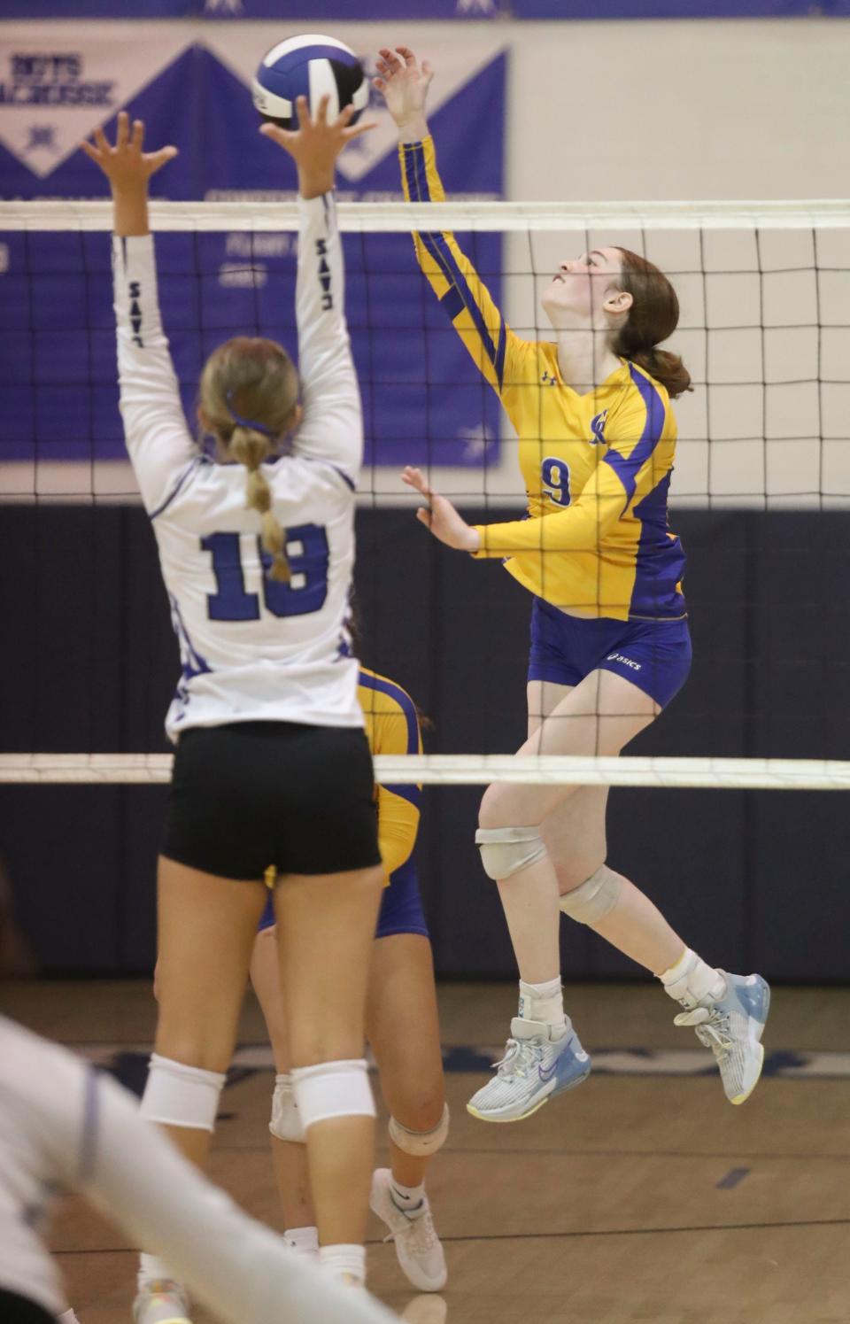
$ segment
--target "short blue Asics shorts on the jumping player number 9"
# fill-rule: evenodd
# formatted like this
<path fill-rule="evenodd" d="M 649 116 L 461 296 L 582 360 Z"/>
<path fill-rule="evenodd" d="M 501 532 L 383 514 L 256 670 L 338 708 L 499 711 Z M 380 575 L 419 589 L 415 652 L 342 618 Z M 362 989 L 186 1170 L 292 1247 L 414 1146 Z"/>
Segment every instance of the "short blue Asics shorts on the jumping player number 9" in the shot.
<path fill-rule="evenodd" d="M 592 671 L 613 671 L 665 708 L 691 670 L 687 618 L 612 621 L 567 616 L 535 597 L 530 681 L 579 685 Z"/>

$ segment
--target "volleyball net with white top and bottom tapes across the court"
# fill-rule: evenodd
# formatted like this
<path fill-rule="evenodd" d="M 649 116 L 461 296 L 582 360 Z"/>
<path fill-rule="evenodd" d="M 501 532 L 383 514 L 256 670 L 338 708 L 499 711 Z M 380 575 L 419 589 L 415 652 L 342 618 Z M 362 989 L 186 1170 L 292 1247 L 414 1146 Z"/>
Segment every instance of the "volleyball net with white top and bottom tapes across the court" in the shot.
<path fill-rule="evenodd" d="M 399 478 L 405 463 L 425 466 L 438 490 L 481 518 L 496 511 L 493 518 L 503 519 L 524 506 L 516 437 L 420 274 L 412 229 L 455 232 L 527 339 L 551 335 L 540 291 L 565 257 L 617 244 L 670 275 L 681 322 L 669 347 L 695 387 L 675 405 L 671 524 L 687 524 L 685 588 L 695 636 L 702 633 L 698 655 L 711 661 L 712 675 L 726 666 L 732 677 L 723 688 L 704 666 L 703 678 L 688 682 L 696 682 L 699 707 L 699 722 L 688 719 L 679 741 L 688 757 L 667 753 L 677 744 L 669 739 L 659 753 L 639 757 L 494 753 L 499 740 L 512 741 L 496 733 L 489 686 L 498 682 L 507 704 L 507 687 L 519 685 L 510 702 L 522 707 L 527 637 L 506 629 L 487 604 L 506 594 L 519 604 L 519 591 L 496 567 L 470 564 L 457 577 L 467 584 L 474 573 L 487 587 L 481 600 L 478 588 L 458 598 L 451 567 L 459 563 L 449 560 L 457 553 L 433 547 L 416 553 L 409 576 L 418 575 L 417 588 L 405 601 L 391 534 L 361 520 L 368 584 L 360 593 L 368 633 L 383 641 L 380 669 L 424 703 L 438 747 L 418 760 L 379 761 L 379 776 L 440 785 L 843 789 L 850 203 L 343 203 L 339 220 L 367 432 L 363 520 L 387 515 L 413 524 L 417 502 Z M 191 420 L 201 363 L 221 340 L 261 334 L 295 351 L 295 207 L 154 203 L 151 222 L 163 318 Z M 110 225 L 105 203 L 0 204 L 0 499 L 15 622 L 3 650 L 7 782 L 168 777 L 168 755 L 151 752 L 163 748 L 165 700 L 144 658 L 155 646 L 162 657 L 154 670 L 171 667 L 176 679 L 176 647 L 159 625 L 151 645 L 135 618 L 118 629 L 113 621 L 142 592 L 136 567 L 151 561 L 152 540 L 122 516 L 138 494 L 117 408 Z M 417 532 L 424 547 L 428 538 Z M 150 575 L 144 593 L 152 594 Z M 148 606 L 162 617 L 163 602 Z M 527 602 L 511 610 L 516 621 Z M 829 628 L 814 628 L 825 614 Z M 470 659 L 453 637 L 461 630 L 462 642 L 473 626 Z M 414 683 L 417 632 L 420 651 L 430 655 L 425 695 Z M 74 688 L 60 704 L 56 691 L 69 677 Z M 462 753 L 454 752 L 457 731 L 446 737 L 444 702 L 458 686 L 470 711 L 479 699 L 490 704 L 478 726 L 463 728 L 470 745 Z M 782 704 L 793 720 L 768 730 L 765 714 Z"/>

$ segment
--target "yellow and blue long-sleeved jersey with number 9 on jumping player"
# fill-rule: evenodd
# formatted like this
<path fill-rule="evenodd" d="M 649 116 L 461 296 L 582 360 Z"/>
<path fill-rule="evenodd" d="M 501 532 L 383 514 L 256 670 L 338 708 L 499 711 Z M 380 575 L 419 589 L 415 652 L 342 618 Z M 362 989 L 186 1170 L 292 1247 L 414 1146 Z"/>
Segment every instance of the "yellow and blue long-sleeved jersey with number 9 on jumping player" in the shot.
<path fill-rule="evenodd" d="M 444 201 L 432 138 L 399 147 L 408 201 Z M 519 438 L 527 516 L 477 526 L 478 557 L 502 557 L 532 593 L 579 616 L 681 617 L 685 553 L 667 523 L 677 425 L 637 364 L 579 395 L 557 346 L 523 340 L 449 232 L 417 233 L 416 256 Z"/>

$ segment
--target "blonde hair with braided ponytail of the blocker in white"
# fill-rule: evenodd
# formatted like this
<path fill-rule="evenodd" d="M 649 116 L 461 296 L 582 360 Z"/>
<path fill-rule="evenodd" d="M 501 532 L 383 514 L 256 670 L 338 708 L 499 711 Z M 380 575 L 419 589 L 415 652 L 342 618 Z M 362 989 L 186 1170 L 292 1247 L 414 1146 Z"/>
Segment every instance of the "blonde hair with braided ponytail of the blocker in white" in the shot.
<path fill-rule="evenodd" d="M 298 373 L 282 346 L 261 336 L 236 336 L 211 354 L 201 373 L 201 409 L 228 459 L 245 465 L 245 506 L 261 519 L 269 577 L 289 583 L 283 530 L 271 512 L 271 489 L 261 465 L 290 430 L 298 402 Z M 241 420 L 241 421 L 237 421 Z"/>

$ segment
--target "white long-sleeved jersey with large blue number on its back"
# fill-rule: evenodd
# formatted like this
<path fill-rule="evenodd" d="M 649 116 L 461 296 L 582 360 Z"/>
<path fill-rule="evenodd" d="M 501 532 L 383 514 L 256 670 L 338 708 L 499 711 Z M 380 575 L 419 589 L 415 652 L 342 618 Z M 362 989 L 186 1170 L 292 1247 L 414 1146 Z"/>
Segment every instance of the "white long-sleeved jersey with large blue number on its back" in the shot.
<path fill-rule="evenodd" d="M 214 463 L 187 428 L 152 237 L 117 237 L 113 271 L 127 450 L 154 522 L 183 662 L 168 735 L 263 719 L 361 727 L 346 620 L 363 416 L 332 195 L 299 199 L 303 421 L 293 453 L 262 466 L 286 530 L 289 584 L 263 572 L 261 518 L 245 508 L 245 466 Z"/>

